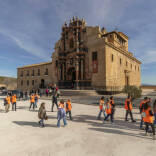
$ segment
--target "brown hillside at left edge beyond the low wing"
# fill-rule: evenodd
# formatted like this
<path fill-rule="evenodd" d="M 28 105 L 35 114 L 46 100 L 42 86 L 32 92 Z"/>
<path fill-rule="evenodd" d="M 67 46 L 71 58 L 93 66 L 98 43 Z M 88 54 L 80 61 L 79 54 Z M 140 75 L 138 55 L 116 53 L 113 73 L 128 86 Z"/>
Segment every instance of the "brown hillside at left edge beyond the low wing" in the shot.
<path fill-rule="evenodd" d="M 17 79 L 13 77 L 0 76 L 0 85 L 6 86 L 8 90 L 14 90 L 17 88 Z"/>

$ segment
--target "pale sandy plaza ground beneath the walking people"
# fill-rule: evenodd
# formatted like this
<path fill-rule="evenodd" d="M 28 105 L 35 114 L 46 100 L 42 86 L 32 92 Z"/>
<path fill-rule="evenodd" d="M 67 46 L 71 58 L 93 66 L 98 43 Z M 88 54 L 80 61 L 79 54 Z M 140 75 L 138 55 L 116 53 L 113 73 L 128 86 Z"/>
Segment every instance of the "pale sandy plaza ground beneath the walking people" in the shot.
<path fill-rule="evenodd" d="M 17 102 L 17 112 L 4 112 L 0 100 L 0 156 L 155 156 L 156 141 L 139 130 L 140 115 L 134 110 L 136 123 L 125 122 L 125 110 L 117 107 L 115 124 L 98 121 L 98 106 L 73 103 L 73 121 L 56 127 L 55 112 L 50 112 L 46 127 L 38 125 L 36 111 L 29 111 L 29 101 Z"/>

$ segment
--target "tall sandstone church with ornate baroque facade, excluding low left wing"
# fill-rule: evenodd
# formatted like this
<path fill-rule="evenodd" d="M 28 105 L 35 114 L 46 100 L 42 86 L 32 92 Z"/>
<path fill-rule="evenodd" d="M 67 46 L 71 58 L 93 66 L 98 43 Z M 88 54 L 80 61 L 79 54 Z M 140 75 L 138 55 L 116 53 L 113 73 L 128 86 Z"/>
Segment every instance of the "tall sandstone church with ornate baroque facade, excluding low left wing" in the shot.
<path fill-rule="evenodd" d="M 51 83 L 60 88 L 121 91 L 141 84 L 141 62 L 128 51 L 128 37 L 74 18 L 62 27 L 52 54 Z M 19 78 L 19 74 L 18 74 Z M 19 87 L 20 88 L 20 83 Z"/>

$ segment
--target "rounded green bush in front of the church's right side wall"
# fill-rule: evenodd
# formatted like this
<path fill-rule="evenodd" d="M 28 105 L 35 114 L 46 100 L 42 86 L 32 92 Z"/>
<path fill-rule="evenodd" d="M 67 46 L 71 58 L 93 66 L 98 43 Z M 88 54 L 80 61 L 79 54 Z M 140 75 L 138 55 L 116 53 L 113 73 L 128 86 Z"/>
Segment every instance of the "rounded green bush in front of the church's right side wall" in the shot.
<path fill-rule="evenodd" d="M 123 92 L 127 94 L 127 96 L 131 96 L 132 99 L 140 98 L 142 94 L 141 87 L 137 86 L 125 86 Z"/>

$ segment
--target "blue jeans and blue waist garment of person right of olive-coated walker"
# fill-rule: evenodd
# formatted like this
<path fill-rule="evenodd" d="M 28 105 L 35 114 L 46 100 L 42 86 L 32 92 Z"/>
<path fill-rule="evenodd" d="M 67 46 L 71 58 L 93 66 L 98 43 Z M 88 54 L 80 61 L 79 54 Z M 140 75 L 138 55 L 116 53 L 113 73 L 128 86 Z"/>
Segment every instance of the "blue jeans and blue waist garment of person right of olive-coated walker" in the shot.
<path fill-rule="evenodd" d="M 60 127 L 60 121 L 63 119 L 64 126 L 67 125 L 66 114 L 64 109 L 59 109 L 57 114 L 57 127 Z"/>

